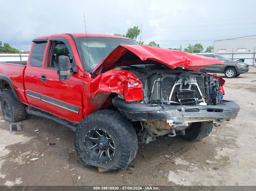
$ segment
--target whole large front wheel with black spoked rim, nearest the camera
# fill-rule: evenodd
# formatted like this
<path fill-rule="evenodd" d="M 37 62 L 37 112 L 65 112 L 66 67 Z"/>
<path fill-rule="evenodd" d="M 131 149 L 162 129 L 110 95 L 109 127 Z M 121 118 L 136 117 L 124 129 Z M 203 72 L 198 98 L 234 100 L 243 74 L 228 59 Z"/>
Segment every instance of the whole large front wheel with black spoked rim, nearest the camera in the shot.
<path fill-rule="evenodd" d="M 75 150 L 82 162 L 109 170 L 124 169 L 138 150 L 131 122 L 110 110 L 100 110 L 82 119 L 74 139 Z"/>

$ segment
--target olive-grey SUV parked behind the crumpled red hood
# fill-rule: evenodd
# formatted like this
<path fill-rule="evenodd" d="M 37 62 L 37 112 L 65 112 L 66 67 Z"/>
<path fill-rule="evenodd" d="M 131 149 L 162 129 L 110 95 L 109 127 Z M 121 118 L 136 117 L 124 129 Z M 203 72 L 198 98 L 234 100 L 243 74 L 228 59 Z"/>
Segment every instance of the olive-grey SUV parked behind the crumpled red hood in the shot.
<path fill-rule="evenodd" d="M 248 73 L 249 64 L 244 62 L 238 62 L 234 60 L 229 60 L 222 55 L 219 54 L 198 54 L 201 56 L 207 56 L 210 58 L 215 58 L 224 61 L 224 64 L 213 64 L 208 65 L 204 68 L 201 68 L 202 72 L 210 72 L 210 73 L 221 73 L 225 74 L 227 78 L 238 77 L 240 74 Z"/>

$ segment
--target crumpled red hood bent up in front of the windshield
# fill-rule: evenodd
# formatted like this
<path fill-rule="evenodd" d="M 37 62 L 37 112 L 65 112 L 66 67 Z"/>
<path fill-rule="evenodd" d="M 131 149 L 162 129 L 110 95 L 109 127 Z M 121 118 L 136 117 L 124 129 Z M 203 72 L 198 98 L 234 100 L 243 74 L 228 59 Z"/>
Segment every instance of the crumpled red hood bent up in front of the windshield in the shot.
<path fill-rule="evenodd" d="M 125 55 L 129 51 L 131 52 L 131 54 L 129 54 L 130 58 Z M 122 59 L 121 57 L 125 57 L 126 59 Z M 188 69 L 203 68 L 211 64 L 224 63 L 218 59 L 176 50 L 140 45 L 119 45 L 103 59 L 92 72 L 98 73 L 100 70 L 113 68 L 115 66 L 145 64 L 145 61 L 147 61 L 148 64 L 164 64 L 171 69 L 177 67 Z"/>

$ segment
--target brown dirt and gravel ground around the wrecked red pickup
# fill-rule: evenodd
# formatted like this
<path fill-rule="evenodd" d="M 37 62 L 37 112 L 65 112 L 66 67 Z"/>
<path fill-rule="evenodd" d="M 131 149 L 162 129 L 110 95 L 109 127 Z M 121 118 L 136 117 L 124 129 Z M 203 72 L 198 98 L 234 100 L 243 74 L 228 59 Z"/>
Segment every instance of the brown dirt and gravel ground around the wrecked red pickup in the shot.
<path fill-rule="evenodd" d="M 0 185 L 256 185 L 256 68 L 225 79 L 224 98 L 241 107 L 237 119 L 196 142 L 139 144 L 133 170 L 99 173 L 81 164 L 72 153 L 74 132 L 47 119 L 28 115 L 22 131 L 10 134 L 1 112 Z"/>

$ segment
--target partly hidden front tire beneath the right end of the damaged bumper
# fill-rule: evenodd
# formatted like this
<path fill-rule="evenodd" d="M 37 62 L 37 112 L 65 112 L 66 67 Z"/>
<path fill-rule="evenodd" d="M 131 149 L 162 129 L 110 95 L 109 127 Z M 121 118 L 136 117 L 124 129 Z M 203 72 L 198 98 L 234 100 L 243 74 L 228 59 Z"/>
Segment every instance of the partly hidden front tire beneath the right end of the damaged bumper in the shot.
<path fill-rule="evenodd" d="M 185 135 L 183 138 L 187 139 L 188 141 L 196 141 L 201 138 L 207 137 L 213 128 L 212 123 L 201 123 L 201 122 L 194 122 L 185 129 Z"/>

